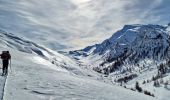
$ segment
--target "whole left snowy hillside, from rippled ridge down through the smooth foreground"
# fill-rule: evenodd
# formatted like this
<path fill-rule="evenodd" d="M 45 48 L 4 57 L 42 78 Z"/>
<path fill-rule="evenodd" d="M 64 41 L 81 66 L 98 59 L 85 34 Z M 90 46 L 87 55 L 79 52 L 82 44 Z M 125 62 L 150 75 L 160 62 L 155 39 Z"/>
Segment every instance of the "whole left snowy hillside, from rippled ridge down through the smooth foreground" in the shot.
<path fill-rule="evenodd" d="M 71 74 L 75 71 L 69 70 L 73 69 L 73 62 L 71 60 L 70 63 L 68 57 L 14 34 L 1 31 L 0 38 L 0 50 L 9 50 L 12 55 L 4 100 L 156 100 L 81 74 Z M 51 57 L 56 59 L 53 63 Z M 2 90 L 3 87 L 0 87 Z"/>

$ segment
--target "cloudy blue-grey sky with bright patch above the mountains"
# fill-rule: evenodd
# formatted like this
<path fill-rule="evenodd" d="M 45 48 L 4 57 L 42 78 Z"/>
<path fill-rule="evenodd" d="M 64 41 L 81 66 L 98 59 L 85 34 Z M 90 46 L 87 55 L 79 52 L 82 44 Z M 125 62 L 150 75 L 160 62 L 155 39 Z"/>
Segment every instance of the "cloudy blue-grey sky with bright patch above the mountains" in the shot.
<path fill-rule="evenodd" d="M 167 24 L 170 0 L 0 0 L 0 29 L 54 50 L 100 43 L 125 24 Z"/>

